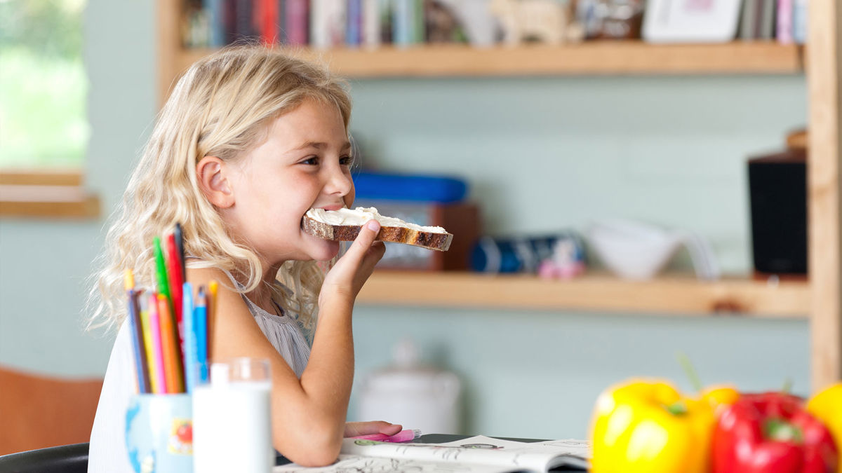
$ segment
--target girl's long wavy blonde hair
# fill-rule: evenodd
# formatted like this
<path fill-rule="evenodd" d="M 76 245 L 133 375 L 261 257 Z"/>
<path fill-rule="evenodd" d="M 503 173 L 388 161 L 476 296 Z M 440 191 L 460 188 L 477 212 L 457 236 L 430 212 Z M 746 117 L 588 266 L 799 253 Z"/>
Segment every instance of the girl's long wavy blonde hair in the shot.
<path fill-rule="evenodd" d="M 152 238 L 173 231 L 176 222 L 183 229 L 184 252 L 196 258 L 188 260 L 189 267 L 231 271 L 246 281 L 241 293 L 262 284 L 262 263 L 226 231 L 200 190 L 196 164 L 205 156 L 223 161 L 242 156 L 265 140 L 272 120 L 306 98 L 335 105 L 348 133 L 347 83 L 325 67 L 261 45 L 234 45 L 197 61 L 184 73 L 158 115 L 115 212 L 100 269 L 93 274 L 88 328 L 119 326 L 126 315 L 125 269 L 131 268 L 138 284 L 151 286 Z M 272 286 L 274 300 L 297 314 L 308 332 L 316 322 L 318 292 L 329 264 L 287 261 L 278 279 L 289 291 Z"/>

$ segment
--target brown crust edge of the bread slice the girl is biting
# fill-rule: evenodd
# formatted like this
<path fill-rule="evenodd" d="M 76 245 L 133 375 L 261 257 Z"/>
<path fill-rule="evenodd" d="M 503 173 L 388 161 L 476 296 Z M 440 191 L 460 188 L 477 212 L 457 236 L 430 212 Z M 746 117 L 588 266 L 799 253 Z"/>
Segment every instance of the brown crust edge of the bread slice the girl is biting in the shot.
<path fill-rule="evenodd" d="M 301 228 L 313 237 L 336 242 L 353 242 L 357 235 L 360 235 L 359 225 L 330 225 L 307 215 L 301 221 Z M 405 226 L 381 226 L 376 239 L 381 242 L 405 243 L 413 245 L 413 247 L 424 247 L 446 252 L 450 248 L 453 235 L 451 233 L 417 231 Z"/>

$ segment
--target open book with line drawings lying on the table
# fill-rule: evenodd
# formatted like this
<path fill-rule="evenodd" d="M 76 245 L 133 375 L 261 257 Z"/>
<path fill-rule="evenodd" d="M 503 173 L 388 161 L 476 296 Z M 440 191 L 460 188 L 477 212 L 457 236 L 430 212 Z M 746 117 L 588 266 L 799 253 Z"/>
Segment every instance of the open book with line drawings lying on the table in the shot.
<path fill-rule="evenodd" d="M 514 442 L 479 435 L 445 444 L 387 444 L 345 438 L 339 459 L 333 465 L 305 468 L 290 464 L 274 467 L 273 473 L 344 472 L 386 473 L 387 471 L 490 473 L 585 470 L 590 458 L 583 440 Z"/>

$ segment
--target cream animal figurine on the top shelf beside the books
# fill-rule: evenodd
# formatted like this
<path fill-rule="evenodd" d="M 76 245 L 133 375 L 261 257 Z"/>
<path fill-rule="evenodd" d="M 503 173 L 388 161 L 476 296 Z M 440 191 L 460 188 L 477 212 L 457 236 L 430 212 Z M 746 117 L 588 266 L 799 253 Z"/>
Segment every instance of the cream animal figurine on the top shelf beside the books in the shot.
<path fill-rule="evenodd" d="M 550 45 L 580 40 L 584 29 L 573 23 L 568 4 L 557 0 L 491 0 L 489 8 L 504 30 L 506 45 L 535 39 Z"/>

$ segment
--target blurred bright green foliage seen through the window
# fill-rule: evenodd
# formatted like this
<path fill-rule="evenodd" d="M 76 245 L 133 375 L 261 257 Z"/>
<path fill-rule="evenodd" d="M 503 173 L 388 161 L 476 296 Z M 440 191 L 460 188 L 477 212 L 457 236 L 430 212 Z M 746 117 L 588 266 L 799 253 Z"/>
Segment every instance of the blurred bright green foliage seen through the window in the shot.
<path fill-rule="evenodd" d="M 85 0 L 0 0 L 0 167 L 82 167 Z"/>

